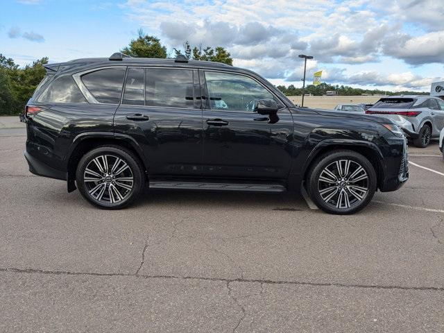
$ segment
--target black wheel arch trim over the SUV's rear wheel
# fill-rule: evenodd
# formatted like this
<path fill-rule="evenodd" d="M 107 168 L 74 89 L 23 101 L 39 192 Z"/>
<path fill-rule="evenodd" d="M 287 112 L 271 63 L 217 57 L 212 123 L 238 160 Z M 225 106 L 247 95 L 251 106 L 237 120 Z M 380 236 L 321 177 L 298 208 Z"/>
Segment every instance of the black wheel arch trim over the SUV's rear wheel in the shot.
<path fill-rule="evenodd" d="M 142 148 L 140 148 L 139 144 L 137 144 L 133 137 L 122 134 L 114 135 L 114 133 L 81 133 L 74 139 L 65 155 L 68 192 L 76 189 L 74 180 L 76 179 L 76 169 L 80 158 L 88 151 L 106 144 L 121 146 L 134 153 L 139 159 L 139 162 L 144 166 L 144 173 L 146 175 L 146 171 L 148 170 L 148 160 L 146 159 Z"/>

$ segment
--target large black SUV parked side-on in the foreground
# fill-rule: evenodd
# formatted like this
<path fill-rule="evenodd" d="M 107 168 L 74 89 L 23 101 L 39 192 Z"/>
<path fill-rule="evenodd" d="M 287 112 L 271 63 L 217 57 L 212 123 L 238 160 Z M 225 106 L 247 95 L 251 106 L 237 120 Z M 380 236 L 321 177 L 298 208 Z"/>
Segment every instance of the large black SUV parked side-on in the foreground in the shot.
<path fill-rule="evenodd" d="M 176 59 L 45 65 L 28 101 L 32 173 L 117 209 L 143 189 L 299 191 L 350 214 L 408 178 L 391 120 L 296 108 L 253 71 Z"/>

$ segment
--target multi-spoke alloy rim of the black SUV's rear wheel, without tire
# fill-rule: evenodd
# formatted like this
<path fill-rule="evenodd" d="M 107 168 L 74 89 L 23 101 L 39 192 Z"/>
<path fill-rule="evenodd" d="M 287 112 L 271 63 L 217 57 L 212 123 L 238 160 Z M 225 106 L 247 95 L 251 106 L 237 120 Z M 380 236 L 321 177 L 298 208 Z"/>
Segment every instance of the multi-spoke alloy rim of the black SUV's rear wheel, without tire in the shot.
<path fill-rule="evenodd" d="M 133 171 L 115 155 L 94 157 L 85 168 L 83 182 L 89 196 L 101 203 L 119 203 L 133 190 Z"/>

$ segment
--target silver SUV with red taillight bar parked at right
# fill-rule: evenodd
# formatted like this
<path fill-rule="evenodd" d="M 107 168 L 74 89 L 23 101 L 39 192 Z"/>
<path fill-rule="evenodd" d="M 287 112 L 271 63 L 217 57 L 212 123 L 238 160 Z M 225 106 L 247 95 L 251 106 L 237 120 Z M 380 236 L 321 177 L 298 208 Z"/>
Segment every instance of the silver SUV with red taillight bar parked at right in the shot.
<path fill-rule="evenodd" d="M 434 96 L 390 96 L 379 99 L 367 114 L 387 117 L 397 123 L 420 148 L 438 139 L 444 128 L 444 101 Z"/>

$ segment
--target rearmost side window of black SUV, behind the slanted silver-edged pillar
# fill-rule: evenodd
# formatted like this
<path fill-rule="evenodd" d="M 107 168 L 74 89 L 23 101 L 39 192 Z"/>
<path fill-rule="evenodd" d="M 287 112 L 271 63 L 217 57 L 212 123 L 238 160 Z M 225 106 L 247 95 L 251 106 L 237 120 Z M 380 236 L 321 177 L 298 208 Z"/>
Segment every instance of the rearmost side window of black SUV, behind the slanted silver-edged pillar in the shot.
<path fill-rule="evenodd" d="M 74 78 L 70 75 L 53 80 L 44 92 L 37 97 L 41 103 L 87 103 Z"/>

